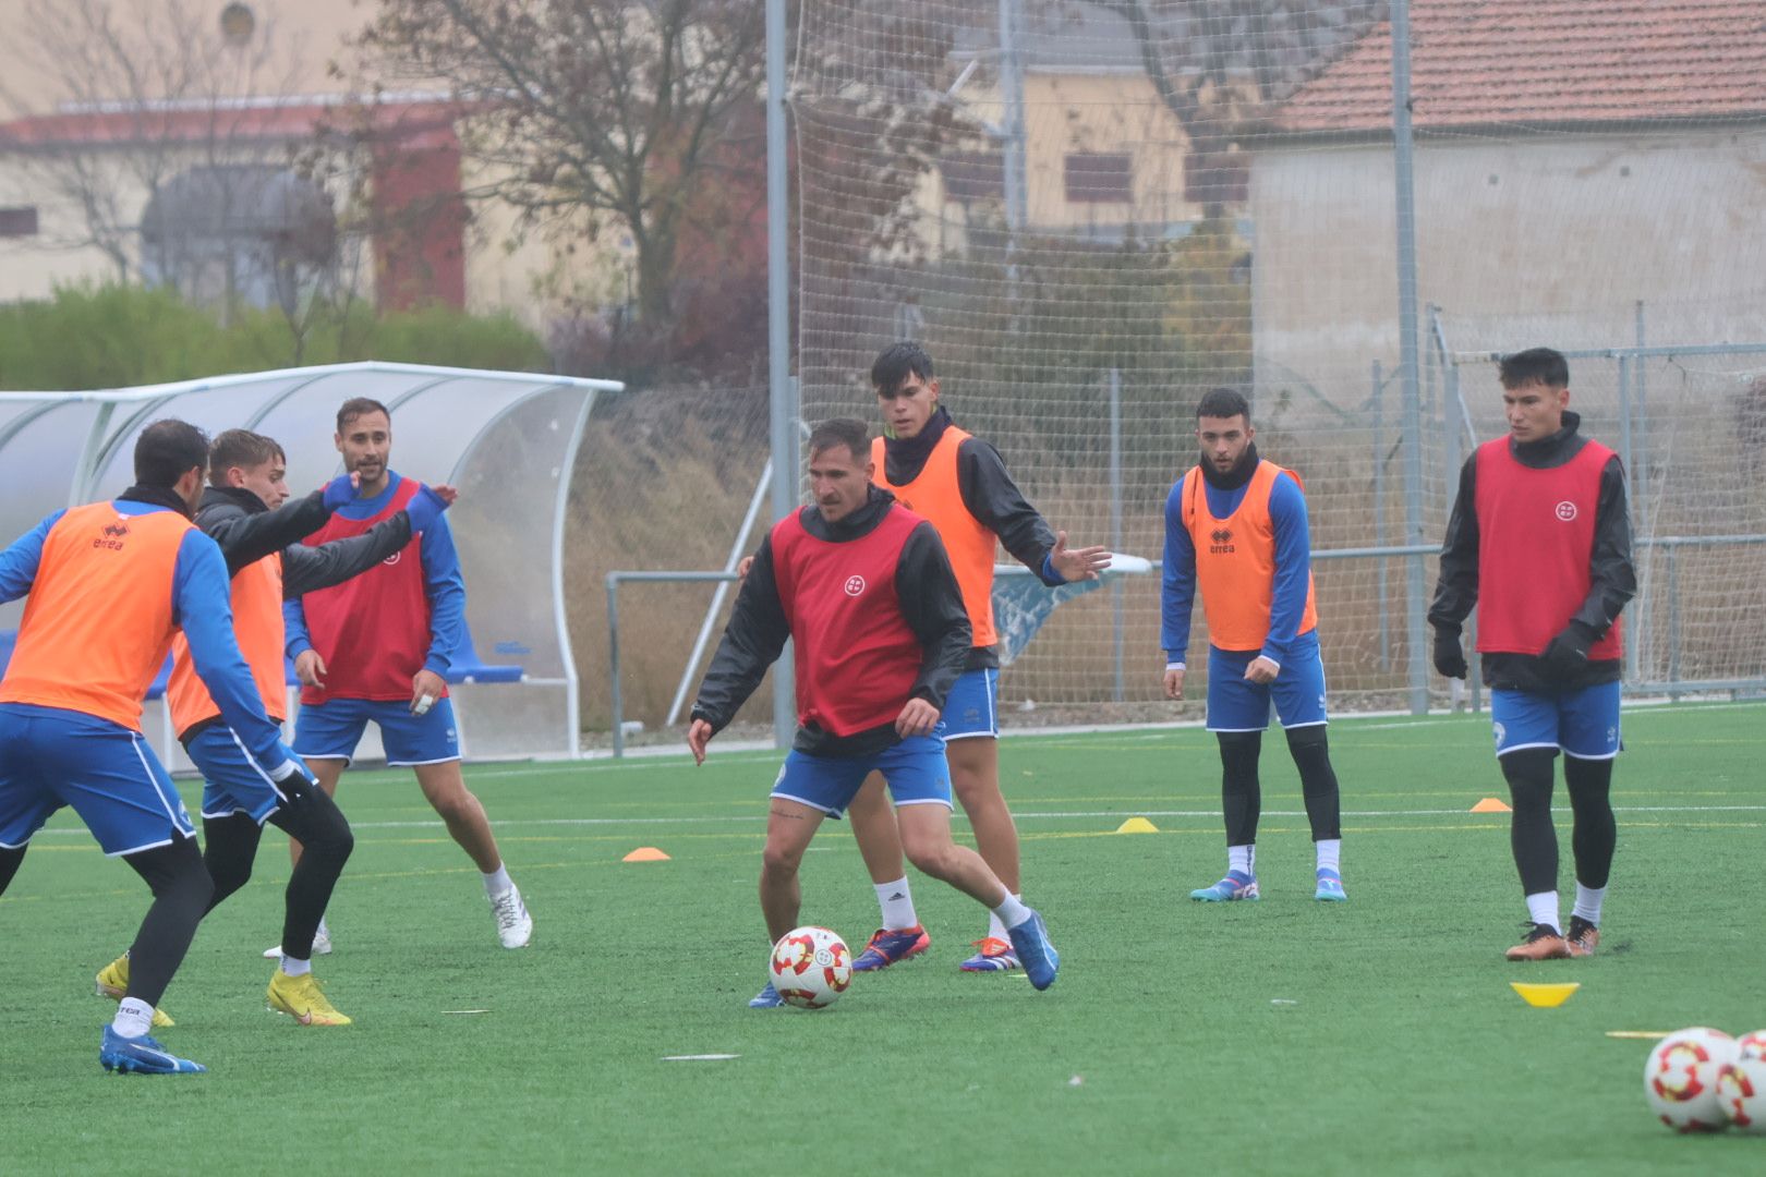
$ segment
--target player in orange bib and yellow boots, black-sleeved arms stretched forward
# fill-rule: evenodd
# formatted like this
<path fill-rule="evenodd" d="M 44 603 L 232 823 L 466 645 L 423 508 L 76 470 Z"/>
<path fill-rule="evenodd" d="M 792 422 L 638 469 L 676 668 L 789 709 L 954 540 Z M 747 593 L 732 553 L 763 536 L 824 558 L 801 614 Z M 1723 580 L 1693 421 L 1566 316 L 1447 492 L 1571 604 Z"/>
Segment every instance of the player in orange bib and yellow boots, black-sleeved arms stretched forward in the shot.
<path fill-rule="evenodd" d="M 406 510 L 366 535 L 306 547 L 300 536 L 330 519 L 357 492 L 357 475 L 339 475 L 323 491 L 288 503 L 288 459 L 274 439 L 247 429 L 230 429 L 208 450 L 208 489 L 196 508 L 196 526 L 226 559 L 231 581 L 233 633 L 251 667 L 270 720 L 288 716 L 283 665 L 283 596 L 339 584 L 378 565 L 429 528 L 454 499 L 452 487 L 424 487 Z M 286 505 L 284 505 L 286 503 Z M 166 702 L 185 753 L 203 773 L 203 865 L 215 893 L 208 911 L 251 879 L 263 822 L 297 838 L 304 852 L 284 896 L 281 967 L 270 978 L 272 1009 L 293 1015 L 300 1025 L 348 1025 L 313 978 L 311 948 L 320 916 L 343 873 L 355 838 L 337 805 L 297 780 L 281 794 L 253 771 L 215 701 L 203 690 L 191 663 L 189 642 L 171 646 L 171 681 Z M 104 997 L 120 999 L 129 985 L 129 958 L 118 956 L 97 976 Z M 155 1009 L 155 1025 L 170 1016 Z"/>

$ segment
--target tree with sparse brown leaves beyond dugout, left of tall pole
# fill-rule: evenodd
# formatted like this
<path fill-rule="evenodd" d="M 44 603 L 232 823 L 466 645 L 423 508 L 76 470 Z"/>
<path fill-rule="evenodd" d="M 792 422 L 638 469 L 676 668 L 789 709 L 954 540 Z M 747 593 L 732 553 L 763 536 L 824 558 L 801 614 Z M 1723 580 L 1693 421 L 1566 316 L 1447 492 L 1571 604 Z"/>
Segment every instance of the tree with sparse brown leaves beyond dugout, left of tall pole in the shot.
<path fill-rule="evenodd" d="M 470 198 L 507 201 L 526 229 L 629 236 L 650 332 L 673 325 L 705 192 L 763 175 L 756 0 L 380 0 L 358 46 L 381 86 L 445 78 L 477 111 Z"/>

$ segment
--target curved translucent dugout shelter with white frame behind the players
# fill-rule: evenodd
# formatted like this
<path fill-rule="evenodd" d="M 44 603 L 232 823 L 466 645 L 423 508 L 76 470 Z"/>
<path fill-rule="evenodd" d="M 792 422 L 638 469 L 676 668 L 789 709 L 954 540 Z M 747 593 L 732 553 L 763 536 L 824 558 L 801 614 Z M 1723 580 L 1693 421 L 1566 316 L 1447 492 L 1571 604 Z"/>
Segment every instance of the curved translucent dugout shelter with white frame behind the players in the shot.
<path fill-rule="evenodd" d="M 622 388 L 606 379 L 364 362 L 97 392 L 0 392 L 0 545 L 53 510 L 124 491 L 134 480 L 136 436 L 166 416 L 210 436 L 253 429 L 275 438 L 288 452 L 290 491 L 306 494 L 343 469 L 337 406 L 373 397 L 392 413 L 392 468 L 461 492 L 447 515 L 466 579 L 466 642 L 449 676 L 461 753 L 574 757 L 565 512 L 595 395 Z M 0 658 L 23 611 L 21 600 L 0 605 Z M 187 768 L 157 686 L 143 731 L 168 768 Z M 364 759 L 378 755 L 369 741 Z"/>

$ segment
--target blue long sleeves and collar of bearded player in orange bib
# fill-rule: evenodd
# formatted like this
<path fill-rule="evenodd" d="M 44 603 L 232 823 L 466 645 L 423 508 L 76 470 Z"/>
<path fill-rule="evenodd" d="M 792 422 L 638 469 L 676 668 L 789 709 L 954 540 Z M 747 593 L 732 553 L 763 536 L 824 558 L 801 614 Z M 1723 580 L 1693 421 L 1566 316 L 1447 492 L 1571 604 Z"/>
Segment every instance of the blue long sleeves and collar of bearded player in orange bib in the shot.
<path fill-rule="evenodd" d="M 1226 519 L 1245 499 L 1241 487 L 1222 491 L 1201 473 L 1208 512 Z M 1270 635 L 1257 651 L 1280 665 L 1300 630 L 1307 609 L 1307 588 L 1312 584 L 1312 533 L 1307 524 L 1307 499 L 1300 484 L 1286 469 L 1270 487 L 1270 522 L 1275 528 L 1275 591 L 1270 602 Z M 1160 591 L 1160 646 L 1166 660 L 1181 663 L 1190 646 L 1190 612 L 1196 605 L 1196 544 L 1183 526 L 1183 478 L 1166 496 L 1166 558 Z M 1208 602 L 1203 602 L 1203 609 Z"/>

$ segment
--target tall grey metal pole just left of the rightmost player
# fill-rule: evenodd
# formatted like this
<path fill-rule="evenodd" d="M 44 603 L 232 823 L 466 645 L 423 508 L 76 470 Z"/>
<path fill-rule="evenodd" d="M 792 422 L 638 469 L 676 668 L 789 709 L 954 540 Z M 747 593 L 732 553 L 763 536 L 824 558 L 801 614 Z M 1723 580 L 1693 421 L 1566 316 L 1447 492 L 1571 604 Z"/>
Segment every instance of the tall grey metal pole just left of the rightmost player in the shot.
<path fill-rule="evenodd" d="M 1416 330 L 1416 184 L 1411 139 L 1411 5 L 1392 0 L 1392 178 L 1399 222 L 1399 376 L 1404 402 L 1404 542 L 1423 542 L 1423 418 Z M 1423 556 L 1406 558 L 1411 713 L 1429 711 Z"/>

